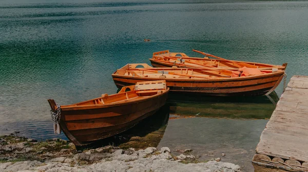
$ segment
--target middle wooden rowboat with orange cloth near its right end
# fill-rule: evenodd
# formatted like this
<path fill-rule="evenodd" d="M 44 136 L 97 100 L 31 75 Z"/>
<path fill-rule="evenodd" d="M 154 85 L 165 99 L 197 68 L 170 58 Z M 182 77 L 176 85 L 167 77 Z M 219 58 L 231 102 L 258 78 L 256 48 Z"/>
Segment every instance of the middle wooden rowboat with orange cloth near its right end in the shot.
<path fill-rule="evenodd" d="M 143 68 L 136 68 L 141 66 Z M 258 70 L 258 69 L 256 69 Z M 112 74 L 118 88 L 139 81 L 165 79 L 172 92 L 212 96 L 256 96 L 273 92 L 284 76 L 279 69 L 258 70 L 261 74 L 231 77 L 234 71 L 196 68 L 153 68 L 145 63 L 128 64 Z M 239 71 L 236 71 L 239 72 Z"/>

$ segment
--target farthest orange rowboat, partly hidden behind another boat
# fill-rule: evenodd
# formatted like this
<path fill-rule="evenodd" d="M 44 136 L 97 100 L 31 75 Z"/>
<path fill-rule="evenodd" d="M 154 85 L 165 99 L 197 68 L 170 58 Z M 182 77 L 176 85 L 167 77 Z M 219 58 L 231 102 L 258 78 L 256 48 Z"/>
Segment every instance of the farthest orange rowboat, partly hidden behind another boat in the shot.
<path fill-rule="evenodd" d="M 272 68 L 277 68 L 280 70 L 285 70 L 287 63 L 280 65 L 269 65 L 265 63 L 257 62 L 247 62 L 247 61 L 236 61 L 227 60 L 221 57 L 217 57 L 211 54 L 203 53 L 201 51 L 193 50 L 195 52 L 205 55 L 204 58 L 199 57 L 189 57 L 184 53 L 170 53 L 169 50 L 160 51 L 153 53 L 152 58 L 150 58 L 151 64 L 156 68 L 168 68 L 172 66 L 177 66 L 181 68 L 198 68 L 198 69 L 226 69 L 226 70 L 238 70 L 242 67 L 247 68 L 258 68 L 263 70 L 268 70 Z M 216 59 L 210 59 L 208 57 L 213 57 Z"/>

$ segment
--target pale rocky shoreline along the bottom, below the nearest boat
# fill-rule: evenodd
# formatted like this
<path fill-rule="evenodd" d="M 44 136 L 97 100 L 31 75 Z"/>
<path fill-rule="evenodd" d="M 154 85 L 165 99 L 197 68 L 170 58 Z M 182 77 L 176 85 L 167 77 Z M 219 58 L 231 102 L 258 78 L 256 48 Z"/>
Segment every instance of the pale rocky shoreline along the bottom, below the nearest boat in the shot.
<path fill-rule="evenodd" d="M 0 171 L 241 171 L 220 158 L 199 162 L 190 151 L 173 156 L 168 147 L 124 150 L 110 145 L 77 150 L 62 139 L 37 142 L 9 135 L 0 137 Z"/>

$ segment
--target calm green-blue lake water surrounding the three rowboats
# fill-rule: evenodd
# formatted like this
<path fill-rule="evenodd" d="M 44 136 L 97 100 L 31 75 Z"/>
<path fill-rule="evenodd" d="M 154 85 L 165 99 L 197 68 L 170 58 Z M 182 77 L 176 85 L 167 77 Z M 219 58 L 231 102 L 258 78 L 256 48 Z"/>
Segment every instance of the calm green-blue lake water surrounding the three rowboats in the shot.
<path fill-rule="evenodd" d="M 129 62 L 149 63 L 156 51 L 287 62 L 287 80 L 307 75 L 307 16 L 304 1 L 0 1 L 0 134 L 59 137 L 48 98 L 70 104 L 115 93 L 111 73 Z M 158 146 L 224 152 L 223 161 L 251 170 L 275 103 L 186 100 L 169 100 L 171 118 Z M 202 117 L 178 118 L 183 114 Z"/>

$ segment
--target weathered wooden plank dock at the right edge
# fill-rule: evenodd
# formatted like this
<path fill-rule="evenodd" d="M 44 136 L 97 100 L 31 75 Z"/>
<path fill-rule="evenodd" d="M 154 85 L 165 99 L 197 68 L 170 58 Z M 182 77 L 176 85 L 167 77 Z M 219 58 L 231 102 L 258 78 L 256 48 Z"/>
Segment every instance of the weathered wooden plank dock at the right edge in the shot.
<path fill-rule="evenodd" d="M 308 171 L 308 76 L 291 78 L 261 134 L 253 163 Z"/>

